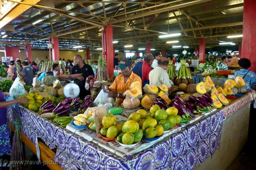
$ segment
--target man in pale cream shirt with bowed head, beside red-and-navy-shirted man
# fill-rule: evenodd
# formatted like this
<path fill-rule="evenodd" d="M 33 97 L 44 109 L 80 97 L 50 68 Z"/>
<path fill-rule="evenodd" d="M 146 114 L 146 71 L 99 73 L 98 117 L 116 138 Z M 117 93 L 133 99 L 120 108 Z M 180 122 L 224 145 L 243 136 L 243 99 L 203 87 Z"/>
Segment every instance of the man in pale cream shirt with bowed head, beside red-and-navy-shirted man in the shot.
<path fill-rule="evenodd" d="M 163 57 L 158 61 L 158 67 L 151 70 L 149 73 L 149 85 L 150 86 L 160 86 L 165 84 L 168 87 L 168 90 L 171 90 L 171 85 L 174 84 L 170 79 L 169 75 L 166 72 L 166 68 L 169 64 L 167 58 Z"/>

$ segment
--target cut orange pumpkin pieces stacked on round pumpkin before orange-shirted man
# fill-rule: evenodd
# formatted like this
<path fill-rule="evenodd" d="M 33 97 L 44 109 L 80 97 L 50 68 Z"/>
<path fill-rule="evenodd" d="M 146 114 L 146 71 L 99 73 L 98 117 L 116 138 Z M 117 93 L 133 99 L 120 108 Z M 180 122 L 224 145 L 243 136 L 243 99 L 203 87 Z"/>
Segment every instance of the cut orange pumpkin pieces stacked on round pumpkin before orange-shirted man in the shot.
<path fill-rule="evenodd" d="M 140 86 L 140 83 L 133 82 L 130 88 L 131 89 L 124 92 L 126 98 L 123 101 L 123 107 L 127 109 L 135 109 L 140 105 L 139 97 L 142 96 L 142 87 Z"/>

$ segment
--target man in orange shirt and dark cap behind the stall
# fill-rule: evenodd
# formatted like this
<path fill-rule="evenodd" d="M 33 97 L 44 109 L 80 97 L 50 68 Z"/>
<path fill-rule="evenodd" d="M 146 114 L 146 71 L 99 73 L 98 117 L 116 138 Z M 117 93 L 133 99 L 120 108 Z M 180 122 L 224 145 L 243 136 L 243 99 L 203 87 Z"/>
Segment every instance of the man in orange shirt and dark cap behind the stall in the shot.
<path fill-rule="evenodd" d="M 120 68 L 121 74 L 115 78 L 110 87 L 107 88 L 107 86 L 103 85 L 102 89 L 108 94 L 108 97 L 116 97 L 116 102 L 120 105 L 125 98 L 123 93 L 130 89 L 130 85 L 134 81 L 139 81 L 140 85 L 142 85 L 142 80 L 132 72 L 132 62 L 128 59 L 120 61 L 117 67 Z"/>

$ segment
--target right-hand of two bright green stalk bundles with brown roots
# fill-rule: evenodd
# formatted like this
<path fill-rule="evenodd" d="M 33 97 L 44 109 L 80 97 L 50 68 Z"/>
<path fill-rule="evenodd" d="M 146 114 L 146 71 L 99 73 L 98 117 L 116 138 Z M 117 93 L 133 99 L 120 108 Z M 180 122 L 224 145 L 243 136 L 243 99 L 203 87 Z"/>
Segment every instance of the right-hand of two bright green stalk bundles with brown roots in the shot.
<path fill-rule="evenodd" d="M 175 84 L 177 86 L 179 86 L 181 83 L 184 83 L 186 85 L 194 83 L 190 70 L 185 66 L 185 63 L 186 60 L 181 60 L 181 67 L 178 70 L 177 78 L 175 80 Z"/>

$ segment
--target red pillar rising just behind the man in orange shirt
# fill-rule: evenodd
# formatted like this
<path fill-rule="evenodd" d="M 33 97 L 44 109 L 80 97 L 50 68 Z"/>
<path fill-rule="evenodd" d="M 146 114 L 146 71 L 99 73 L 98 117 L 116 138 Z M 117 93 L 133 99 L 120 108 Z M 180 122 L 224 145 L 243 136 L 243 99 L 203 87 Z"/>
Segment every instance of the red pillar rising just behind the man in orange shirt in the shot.
<path fill-rule="evenodd" d="M 105 53 L 106 53 L 106 62 L 107 62 L 107 71 L 108 75 L 111 77 L 114 75 L 114 56 L 113 56 L 113 27 L 105 26 Z M 102 40 L 103 41 L 103 40 Z M 102 45 L 103 49 L 103 45 Z M 103 53 L 103 50 L 102 50 Z"/>

